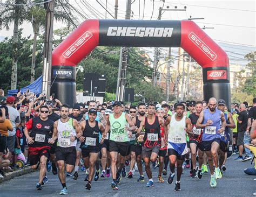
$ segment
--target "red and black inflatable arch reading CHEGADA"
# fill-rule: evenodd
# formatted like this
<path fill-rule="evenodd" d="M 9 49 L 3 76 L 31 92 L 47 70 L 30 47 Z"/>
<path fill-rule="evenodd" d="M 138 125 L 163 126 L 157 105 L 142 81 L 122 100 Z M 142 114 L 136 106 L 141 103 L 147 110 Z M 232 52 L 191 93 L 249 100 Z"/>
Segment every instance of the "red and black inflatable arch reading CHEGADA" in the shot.
<path fill-rule="evenodd" d="M 191 20 L 85 20 L 52 52 L 51 93 L 76 101 L 76 65 L 97 46 L 181 47 L 203 68 L 204 100 L 230 109 L 227 54 Z"/>

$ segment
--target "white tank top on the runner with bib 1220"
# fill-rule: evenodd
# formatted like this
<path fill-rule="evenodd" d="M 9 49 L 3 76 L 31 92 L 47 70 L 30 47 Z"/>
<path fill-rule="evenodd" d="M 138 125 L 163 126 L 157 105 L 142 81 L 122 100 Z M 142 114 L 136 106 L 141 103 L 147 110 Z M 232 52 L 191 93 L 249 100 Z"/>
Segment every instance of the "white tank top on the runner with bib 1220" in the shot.
<path fill-rule="evenodd" d="M 62 122 L 58 120 L 57 126 L 58 142 L 57 146 L 60 147 L 72 147 L 77 145 L 77 140 L 71 142 L 71 136 L 76 136 L 76 129 L 73 126 L 73 118 L 69 118 L 69 121 Z"/>

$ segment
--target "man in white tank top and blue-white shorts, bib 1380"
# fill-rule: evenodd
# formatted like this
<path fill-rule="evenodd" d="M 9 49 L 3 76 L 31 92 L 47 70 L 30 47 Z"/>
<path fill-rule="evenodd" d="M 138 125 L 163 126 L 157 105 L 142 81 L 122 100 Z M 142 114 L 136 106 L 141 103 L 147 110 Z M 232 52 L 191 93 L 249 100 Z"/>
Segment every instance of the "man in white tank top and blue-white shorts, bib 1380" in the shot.
<path fill-rule="evenodd" d="M 180 178 L 182 173 L 182 164 L 187 153 L 186 134 L 192 135 L 192 126 L 190 118 L 184 116 L 185 106 L 182 103 L 176 105 L 176 115 L 166 118 L 164 129 L 168 130 L 168 154 L 170 160 L 170 175 L 167 179 L 168 184 L 172 184 L 175 176 L 175 165 L 177 164 L 177 181 L 174 191 L 180 191 Z"/>

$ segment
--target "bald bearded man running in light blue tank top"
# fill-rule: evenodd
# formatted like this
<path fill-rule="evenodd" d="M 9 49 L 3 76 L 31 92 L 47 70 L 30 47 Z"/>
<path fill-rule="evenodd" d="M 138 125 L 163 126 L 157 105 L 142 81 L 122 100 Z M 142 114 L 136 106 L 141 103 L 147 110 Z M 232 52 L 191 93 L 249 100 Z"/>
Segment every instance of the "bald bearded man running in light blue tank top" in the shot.
<path fill-rule="evenodd" d="M 216 109 L 217 100 L 211 97 L 208 102 L 208 109 L 201 111 L 196 128 L 204 129 L 203 138 L 200 145 L 201 151 L 205 151 L 208 157 L 208 164 L 211 171 L 211 187 L 216 187 L 215 179 L 222 177 L 219 168 L 218 150 L 220 147 L 221 133 L 225 131 L 226 120 L 222 111 Z M 215 164 L 215 173 L 213 171 L 213 161 Z"/>

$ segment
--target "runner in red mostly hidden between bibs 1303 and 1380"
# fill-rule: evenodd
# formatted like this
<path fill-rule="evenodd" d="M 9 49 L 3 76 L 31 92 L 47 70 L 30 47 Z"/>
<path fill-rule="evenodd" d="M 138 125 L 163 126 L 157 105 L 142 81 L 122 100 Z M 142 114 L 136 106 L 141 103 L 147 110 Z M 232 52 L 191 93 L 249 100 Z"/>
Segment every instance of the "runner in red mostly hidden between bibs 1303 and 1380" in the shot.
<path fill-rule="evenodd" d="M 158 108 L 157 109 L 157 116 L 158 118 L 163 119 L 165 114 L 164 108 Z M 164 182 L 163 177 L 161 176 L 164 168 L 164 159 L 166 157 L 166 152 L 167 152 L 167 146 L 164 143 L 164 128 L 163 126 L 160 126 L 160 134 L 161 134 L 161 147 L 160 151 L 158 153 L 159 156 L 159 167 L 158 167 L 158 182 Z"/>

